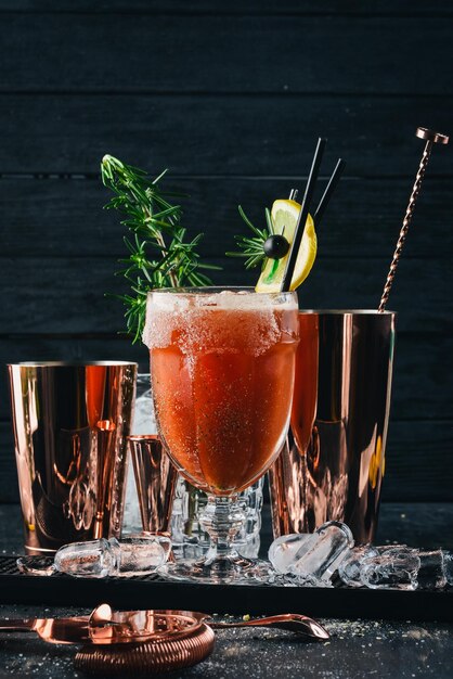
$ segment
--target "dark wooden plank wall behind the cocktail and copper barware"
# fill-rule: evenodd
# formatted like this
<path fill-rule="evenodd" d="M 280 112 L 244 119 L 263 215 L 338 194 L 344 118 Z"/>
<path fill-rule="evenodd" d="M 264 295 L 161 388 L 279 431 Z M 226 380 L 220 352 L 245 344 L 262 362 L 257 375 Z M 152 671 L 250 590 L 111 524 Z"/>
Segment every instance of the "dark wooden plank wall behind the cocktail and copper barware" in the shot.
<path fill-rule="evenodd" d="M 453 132 L 453 4 L 309 0 L 0 0 L 0 361 L 129 359 L 114 278 L 118 217 L 102 210 L 105 153 L 191 194 L 187 227 L 224 266 L 242 203 L 347 176 L 300 290 L 305 307 L 375 308 L 423 143 Z M 436 149 L 389 307 L 399 311 L 385 498 L 452 500 L 451 148 Z M 321 182 L 324 183 L 325 180 Z M 321 191 L 321 187 L 320 187 Z M 16 501 L 5 369 L 0 501 Z"/>

